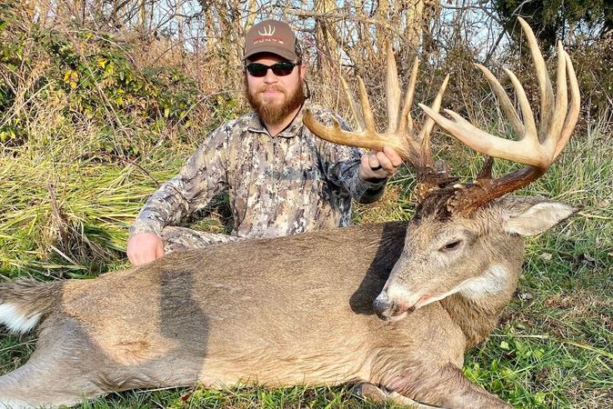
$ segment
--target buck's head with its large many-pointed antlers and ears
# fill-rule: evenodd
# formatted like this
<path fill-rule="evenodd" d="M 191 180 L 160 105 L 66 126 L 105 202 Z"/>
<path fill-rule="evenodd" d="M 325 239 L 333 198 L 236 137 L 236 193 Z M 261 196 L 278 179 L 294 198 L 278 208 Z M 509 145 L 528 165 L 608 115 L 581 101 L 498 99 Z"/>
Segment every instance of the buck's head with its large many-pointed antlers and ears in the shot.
<path fill-rule="evenodd" d="M 455 112 L 446 110 L 452 119 L 438 114 L 445 79 L 431 107 L 419 105 L 427 120 L 417 133 L 410 116 L 415 94 L 417 60 L 400 109 L 397 67 L 391 46 L 387 49 L 387 113 L 384 134 L 375 129 L 373 115 L 363 82 L 358 79 L 363 115 L 349 95 L 358 132 L 345 132 L 339 125 L 325 127 L 312 115 L 305 116 L 307 127 L 319 137 L 344 145 L 382 150 L 394 147 L 417 172 L 417 212 L 407 229 L 403 254 L 392 270 L 387 284 L 375 300 L 375 310 L 383 319 L 400 319 L 407 313 L 460 294 L 468 300 L 501 308 L 507 304 L 517 285 L 523 261 L 523 236 L 539 234 L 572 214 L 564 204 L 538 197 L 505 196 L 544 175 L 549 165 L 568 143 L 578 121 L 579 90 L 577 76 L 568 54 L 558 43 L 556 92 L 537 40 L 521 18 L 538 75 L 540 118 L 536 125 L 526 93 L 518 78 L 507 70 L 515 88 L 522 120 L 502 85 L 486 67 L 477 65 L 487 78 L 503 113 L 507 116 L 518 141 L 489 135 L 471 125 Z M 568 84 L 567 84 L 568 83 Z M 569 95 L 569 98 L 568 98 Z M 429 134 L 434 123 L 479 153 L 487 161 L 474 181 L 458 184 L 430 153 Z M 524 165 L 507 175 L 494 178 L 493 157 Z M 496 304 L 496 305 L 494 305 Z"/>

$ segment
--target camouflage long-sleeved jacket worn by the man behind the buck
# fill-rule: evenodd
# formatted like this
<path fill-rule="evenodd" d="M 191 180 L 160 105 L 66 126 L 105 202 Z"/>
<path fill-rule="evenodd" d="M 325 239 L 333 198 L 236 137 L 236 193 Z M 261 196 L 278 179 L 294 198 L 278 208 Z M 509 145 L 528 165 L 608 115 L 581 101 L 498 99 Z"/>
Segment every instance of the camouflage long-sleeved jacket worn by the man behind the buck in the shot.
<path fill-rule="evenodd" d="M 311 109 L 320 122 L 332 124 L 331 111 Z M 234 215 L 232 234 L 239 237 L 276 237 L 347 226 L 351 198 L 374 202 L 382 195 L 385 180 L 361 180 L 358 168 L 363 152 L 311 134 L 302 124 L 304 110 L 305 106 L 275 137 L 255 113 L 217 128 L 179 175 L 149 198 L 130 234 L 161 235 L 166 225 L 178 224 L 223 191 L 229 195 Z"/>

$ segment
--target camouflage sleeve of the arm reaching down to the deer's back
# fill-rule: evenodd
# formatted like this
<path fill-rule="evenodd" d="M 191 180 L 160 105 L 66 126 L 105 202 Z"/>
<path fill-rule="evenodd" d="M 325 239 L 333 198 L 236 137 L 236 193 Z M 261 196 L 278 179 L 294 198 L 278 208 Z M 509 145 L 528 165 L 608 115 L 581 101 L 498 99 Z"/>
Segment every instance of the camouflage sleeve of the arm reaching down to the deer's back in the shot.
<path fill-rule="evenodd" d="M 139 233 L 161 235 L 166 225 L 178 224 L 226 189 L 227 135 L 225 126 L 216 129 L 198 146 L 180 173 L 149 197 L 130 227 L 130 237 Z"/>

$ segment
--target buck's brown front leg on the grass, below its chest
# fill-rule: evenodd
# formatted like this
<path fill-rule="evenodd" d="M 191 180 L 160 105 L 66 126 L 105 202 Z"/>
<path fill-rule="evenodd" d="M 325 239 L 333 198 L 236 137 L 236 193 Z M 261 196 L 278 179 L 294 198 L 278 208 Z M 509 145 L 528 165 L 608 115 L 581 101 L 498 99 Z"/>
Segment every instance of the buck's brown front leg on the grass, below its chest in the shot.
<path fill-rule="evenodd" d="M 438 370 L 411 371 L 393 377 L 386 387 L 419 402 L 448 408 L 504 408 L 512 406 L 471 383 L 462 370 L 454 364 L 446 364 Z"/>

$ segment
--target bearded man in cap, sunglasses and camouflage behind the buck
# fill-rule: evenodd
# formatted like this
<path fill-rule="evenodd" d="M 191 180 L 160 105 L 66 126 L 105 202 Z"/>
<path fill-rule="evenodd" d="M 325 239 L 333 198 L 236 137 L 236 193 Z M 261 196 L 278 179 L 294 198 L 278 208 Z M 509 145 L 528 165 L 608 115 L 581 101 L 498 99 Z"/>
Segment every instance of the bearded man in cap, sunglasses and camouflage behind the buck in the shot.
<path fill-rule="evenodd" d="M 180 174 L 149 198 L 130 230 L 132 264 L 209 244 L 347 226 L 352 197 L 370 203 L 383 194 L 402 160 L 393 149 L 363 155 L 308 131 L 302 124 L 306 66 L 300 56 L 285 23 L 267 20 L 247 32 L 246 96 L 254 112 L 216 129 Z M 310 108 L 328 125 L 336 117 Z M 175 225 L 223 191 L 234 216 L 231 235 Z"/>

